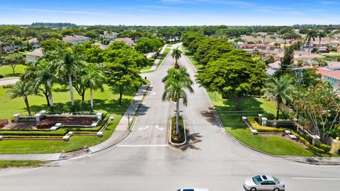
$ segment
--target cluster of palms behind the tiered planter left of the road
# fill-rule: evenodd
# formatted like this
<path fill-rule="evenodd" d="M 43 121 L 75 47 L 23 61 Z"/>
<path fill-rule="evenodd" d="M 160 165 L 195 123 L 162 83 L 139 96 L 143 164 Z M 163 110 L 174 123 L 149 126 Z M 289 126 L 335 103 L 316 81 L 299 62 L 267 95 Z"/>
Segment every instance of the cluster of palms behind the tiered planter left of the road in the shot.
<path fill-rule="evenodd" d="M 80 69 L 84 72 L 77 76 Z M 64 85 L 68 81 L 71 104 L 74 105 L 74 78 L 78 79 L 77 82 L 81 83 L 84 91 L 87 88 L 90 89 L 91 107 L 93 108 L 93 91 L 97 89 L 103 91 L 103 84 L 105 83 L 101 69 L 99 69 L 98 64 L 86 64 L 81 60 L 81 57 L 64 49 L 47 52 L 44 57 L 31 64 L 26 74 L 23 75 L 23 80 L 18 81 L 16 86 L 8 90 L 8 93 L 11 98 L 23 97 L 28 115 L 31 115 L 28 96 L 42 93 L 47 100 L 47 106 L 53 107 L 52 90 L 55 83 Z"/>

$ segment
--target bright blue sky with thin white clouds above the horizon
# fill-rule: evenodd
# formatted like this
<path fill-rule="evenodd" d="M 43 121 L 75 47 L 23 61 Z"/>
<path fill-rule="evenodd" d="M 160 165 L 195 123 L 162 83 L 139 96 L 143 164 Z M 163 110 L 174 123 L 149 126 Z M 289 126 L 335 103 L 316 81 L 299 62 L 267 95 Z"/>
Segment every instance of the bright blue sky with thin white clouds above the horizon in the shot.
<path fill-rule="evenodd" d="M 0 1 L 0 24 L 33 22 L 84 25 L 340 24 L 340 1 Z"/>

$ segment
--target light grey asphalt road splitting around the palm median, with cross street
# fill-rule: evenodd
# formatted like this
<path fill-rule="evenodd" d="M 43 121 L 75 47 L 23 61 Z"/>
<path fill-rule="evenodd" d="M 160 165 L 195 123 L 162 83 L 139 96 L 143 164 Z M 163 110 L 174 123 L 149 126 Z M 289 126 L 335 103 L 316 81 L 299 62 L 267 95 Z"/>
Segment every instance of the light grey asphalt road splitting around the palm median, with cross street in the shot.
<path fill-rule="evenodd" d="M 145 74 L 152 80 L 132 134 L 119 146 L 92 156 L 33 170 L 0 171 L 0 190 L 243 190 L 244 178 L 277 175 L 286 190 L 339 190 L 340 168 L 283 161 L 245 148 L 229 139 L 217 124 L 203 88 L 194 86 L 188 107 L 183 108 L 195 143 L 180 149 L 166 146 L 166 126 L 175 103 L 162 102 L 162 78 L 173 66 L 165 59 L 158 71 Z M 193 68 L 181 59 L 189 73 Z"/>

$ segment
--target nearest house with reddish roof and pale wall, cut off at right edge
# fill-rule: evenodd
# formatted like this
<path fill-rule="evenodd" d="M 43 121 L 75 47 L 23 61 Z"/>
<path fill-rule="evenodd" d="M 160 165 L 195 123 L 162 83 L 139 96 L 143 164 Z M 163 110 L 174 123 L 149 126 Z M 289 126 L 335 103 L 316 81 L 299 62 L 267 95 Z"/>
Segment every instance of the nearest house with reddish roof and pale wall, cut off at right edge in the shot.
<path fill-rule="evenodd" d="M 329 81 L 334 89 L 340 89 L 340 69 L 317 68 L 317 74 L 321 74 L 322 81 Z"/>

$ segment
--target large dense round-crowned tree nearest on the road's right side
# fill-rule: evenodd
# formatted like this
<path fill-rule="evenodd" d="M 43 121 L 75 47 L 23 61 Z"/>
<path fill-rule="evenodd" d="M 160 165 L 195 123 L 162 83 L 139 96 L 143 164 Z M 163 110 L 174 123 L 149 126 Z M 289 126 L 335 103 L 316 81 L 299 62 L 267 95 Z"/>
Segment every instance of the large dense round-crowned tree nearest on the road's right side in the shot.
<path fill-rule="evenodd" d="M 258 91 L 265 75 L 263 62 L 256 62 L 243 50 L 233 50 L 209 62 L 203 70 L 198 71 L 196 80 L 208 91 L 234 99 L 235 110 L 239 110 L 239 99 Z"/>

